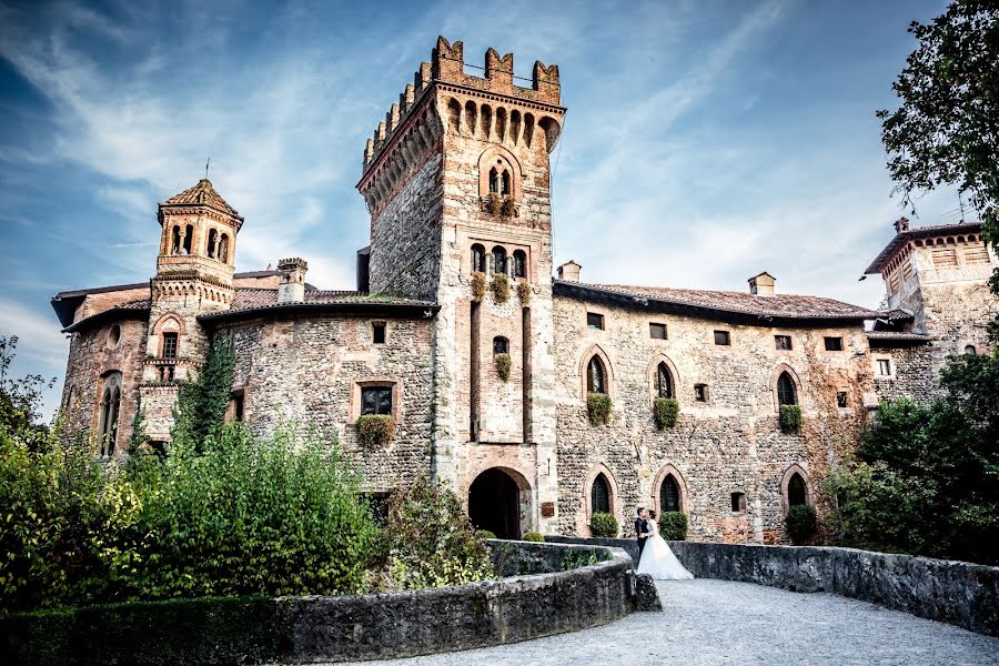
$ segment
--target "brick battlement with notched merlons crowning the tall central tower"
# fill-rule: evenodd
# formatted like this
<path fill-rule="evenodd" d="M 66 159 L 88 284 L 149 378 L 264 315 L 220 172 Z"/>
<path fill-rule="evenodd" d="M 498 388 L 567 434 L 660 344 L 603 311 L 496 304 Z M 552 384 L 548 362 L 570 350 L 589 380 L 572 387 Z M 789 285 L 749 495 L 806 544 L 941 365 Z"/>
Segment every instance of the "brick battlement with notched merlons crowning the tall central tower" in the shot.
<path fill-rule="evenodd" d="M 438 37 L 437 46 L 431 53 L 431 61 L 420 63 L 420 69 L 413 77 L 413 83 L 406 85 L 398 95 L 398 102 L 392 104 L 385 113 L 385 120 L 379 123 L 374 134 L 367 140 L 362 165 L 364 170 L 387 145 L 396 130 L 405 123 L 423 93 L 434 82 L 482 90 L 535 104 L 549 107 L 559 104 L 561 87 L 557 64 L 545 65 L 541 61 L 535 61 L 531 88 L 514 83 L 513 53 L 501 58 L 495 49 L 490 48 L 485 53 L 485 67 L 482 68 L 484 77 L 466 74 L 464 68 L 464 44 L 460 41 L 452 44 L 443 37 Z"/>

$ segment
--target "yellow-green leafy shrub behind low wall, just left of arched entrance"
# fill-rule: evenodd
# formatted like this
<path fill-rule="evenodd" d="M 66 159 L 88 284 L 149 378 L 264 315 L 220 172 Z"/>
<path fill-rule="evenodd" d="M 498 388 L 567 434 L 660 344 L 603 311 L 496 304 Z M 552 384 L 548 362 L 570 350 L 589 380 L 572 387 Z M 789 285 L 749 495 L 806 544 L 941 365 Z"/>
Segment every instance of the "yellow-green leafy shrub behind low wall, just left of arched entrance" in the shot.
<path fill-rule="evenodd" d="M 425 477 L 389 504 L 389 589 L 463 585 L 495 577 L 490 551 L 450 490 Z"/>

